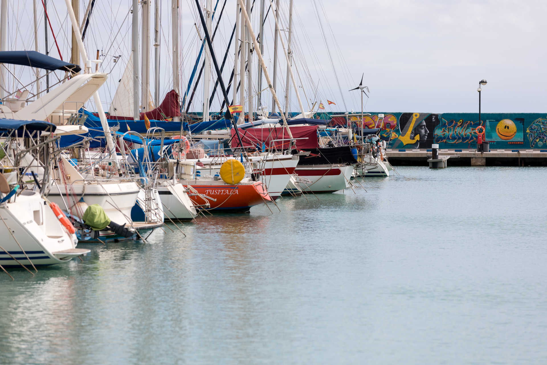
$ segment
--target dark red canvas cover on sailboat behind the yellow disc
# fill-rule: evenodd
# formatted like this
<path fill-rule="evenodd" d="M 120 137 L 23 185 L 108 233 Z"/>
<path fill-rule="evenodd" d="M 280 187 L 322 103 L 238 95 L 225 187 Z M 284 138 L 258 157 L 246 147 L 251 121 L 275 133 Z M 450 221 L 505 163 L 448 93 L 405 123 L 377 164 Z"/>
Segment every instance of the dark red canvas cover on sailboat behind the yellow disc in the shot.
<path fill-rule="evenodd" d="M 304 125 L 304 126 L 294 126 L 289 127 L 290 131 L 293 134 L 293 138 L 296 138 L 296 148 L 318 148 L 319 143 L 317 140 L 317 125 Z M 235 129 L 232 128 L 232 141 L 231 147 L 240 147 L 239 140 L 235 136 Z M 289 134 L 284 127 L 276 128 L 247 128 L 239 130 L 241 135 L 241 140 L 243 141 L 243 146 L 245 147 L 255 147 L 257 144 L 262 146 L 264 143 L 266 148 L 270 146 L 277 149 L 287 149 L 289 148 Z M 305 138 L 299 140 L 298 138 Z M 275 140 L 284 140 L 284 141 L 275 141 Z"/>

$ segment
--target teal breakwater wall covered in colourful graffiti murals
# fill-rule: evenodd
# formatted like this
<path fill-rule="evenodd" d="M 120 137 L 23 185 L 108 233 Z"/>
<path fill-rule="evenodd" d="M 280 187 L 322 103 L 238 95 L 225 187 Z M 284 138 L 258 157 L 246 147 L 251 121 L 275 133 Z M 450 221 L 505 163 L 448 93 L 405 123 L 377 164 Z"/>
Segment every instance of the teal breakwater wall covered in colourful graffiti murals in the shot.
<path fill-rule="evenodd" d="M 321 113 L 330 119 L 331 113 Z M 334 114 L 334 113 L 332 113 Z M 336 113 L 340 114 L 340 113 Z M 389 140 L 388 148 L 427 149 L 438 143 L 441 149 L 476 148 L 476 129 L 482 126 L 490 149 L 533 149 L 547 152 L 547 113 L 379 113 L 350 117 L 354 126 L 380 128 L 382 139 Z M 344 118 L 331 123 L 343 124 Z"/>

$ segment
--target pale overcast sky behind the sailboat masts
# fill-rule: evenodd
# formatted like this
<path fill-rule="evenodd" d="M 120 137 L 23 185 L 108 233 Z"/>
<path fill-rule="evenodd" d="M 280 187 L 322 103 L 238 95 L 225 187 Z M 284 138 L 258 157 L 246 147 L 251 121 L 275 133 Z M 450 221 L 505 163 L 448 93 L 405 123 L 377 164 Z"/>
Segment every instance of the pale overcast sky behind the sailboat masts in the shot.
<path fill-rule="evenodd" d="M 10 14 L 13 15 L 9 18 L 11 43 L 8 49 L 33 49 L 32 0 L 8 1 Z M 48 3 L 61 54 L 67 60 L 70 36 L 65 2 L 50 0 Z M 257 0 L 251 16 L 257 33 L 259 3 Z M 171 1 L 161 3 L 162 94 L 172 88 L 170 4 Z M 220 1 L 218 11 L 222 4 L 223 1 Z M 295 1 L 294 63 L 297 77 L 300 78 L 299 84 L 303 86 L 299 89 L 305 108 L 308 108 L 307 99 L 310 103 L 323 101 L 327 111 L 344 111 L 346 108 L 348 111 L 360 111 L 358 91 L 348 90 L 358 85 L 364 73 L 364 84 L 370 88 L 366 111 L 477 112 L 476 88 L 479 80 L 485 78 L 488 84 L 482 86 L 482 112 L 546 112 L 546 4 L 541 1 L 500 0 Z M 44 25 L 40 1 L 38 5 L 39 49 L 43 52 Z M 82 14 L 86 5 L 87 1 L 82 0 Z M 180 6 L 184 93 L 200 47 L 194 22 L 197 21 L 201 34 L 202 30 L 195 1 L 181 0 Z M 97 48 L 102 49 L 103 53 L 108 50 L 108 55 L 102 57 L 102 70 L 110 72 L 110 77 L 101 90 L 107 105 L 130 56 L 131 15 L 127 15 L 130 8 L 129 0 L 108 3 L 97 1 L 85 40 L 89 54 L 95 55 Z M 152 14 L 153 8 L 154 3 Z M 226 3 L 225 14 L 214 42 L 219 62 L 222 62 L 230 38 L 235 8 L 233 0 Z M 281 26 L 287 28 L 288 0 L 281 0 L 280 13 Z M 273 72 L 272 20 L 272 16 L 269 16 L 264 31 L 264 58 L 270 73 Z M 215 23 L 213 21 L 213 25 Z M 153 15 L 151 24 L 153 27 Z M 286 32 L 283 34 L 286 37 Z M 324 38 L 327 39 L 326 44 Z M 233 67 L 233 48 L 232 44 L 224 71 L 226 82 Z M 51 36 L 50 51 L 50 55 L 59 57 Z M 122 55 L 122 62 L 114 63 L 114 55 Z M 277 89 L 279 96 L 284 97 L 286 66 L 281 46 L 279 58 L 281 71 L 278 69 Z M 255 94 L 258 91 L 256 58 L 253 62 Z M 262 88 L 265 87 L 264 81 Z M 201 90 L 200 84 L 197 89 L 199 96 L 190 110 L 200 110 Z M 294 91 L 290 95 L 290 109 L 298 111 Z M 336 105 L 327 106 L 327 99 L 336 102 Z M 267 91 L 263 92 L 263 103 L 271 105 L 271 96 Z M 218 109 L 219 105 L 220 95 L 217 95 L 211 110 Z"/>

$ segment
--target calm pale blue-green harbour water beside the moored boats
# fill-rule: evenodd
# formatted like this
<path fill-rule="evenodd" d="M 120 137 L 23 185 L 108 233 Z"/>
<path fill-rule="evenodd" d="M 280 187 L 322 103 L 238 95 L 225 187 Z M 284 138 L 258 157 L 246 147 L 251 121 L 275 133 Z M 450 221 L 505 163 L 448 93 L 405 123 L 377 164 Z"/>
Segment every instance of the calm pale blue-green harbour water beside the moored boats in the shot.
<path fill-rule="evenodd" d="M 398 172 L 2 274 L 1 361 L 546 363 L 545 170 Z"/>

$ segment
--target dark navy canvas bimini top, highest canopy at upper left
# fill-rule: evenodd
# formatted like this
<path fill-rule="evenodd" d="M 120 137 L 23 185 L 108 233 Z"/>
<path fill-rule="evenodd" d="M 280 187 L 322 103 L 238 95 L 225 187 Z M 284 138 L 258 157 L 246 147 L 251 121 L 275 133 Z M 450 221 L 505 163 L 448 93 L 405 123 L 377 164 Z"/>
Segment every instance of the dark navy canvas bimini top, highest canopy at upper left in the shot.
<path fill-rule="evenodd" d="M 38 67 L 49 71 L 71 71 L 80 72 L 82 67 L 65 61 L 54 59 L 37 51 L 2 51 L 0 52 L 0 63 L 9 65 L 21 65 Z"/>

